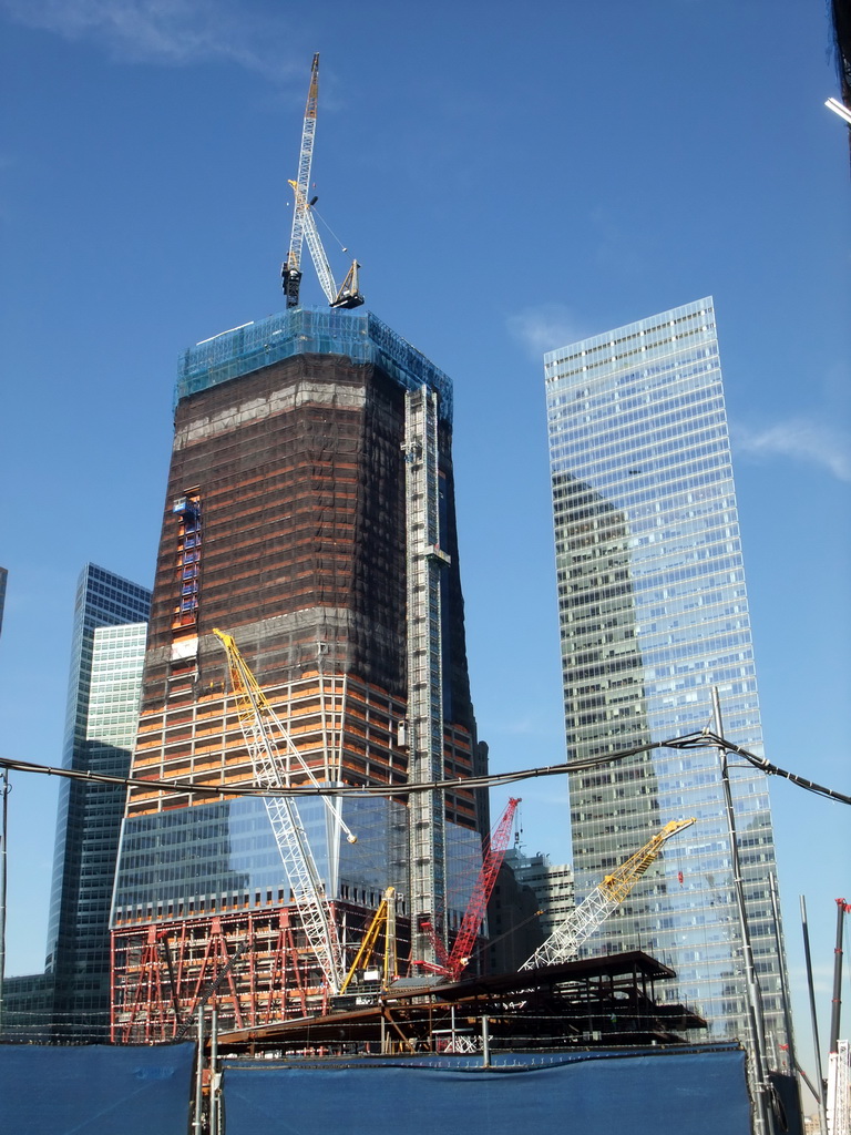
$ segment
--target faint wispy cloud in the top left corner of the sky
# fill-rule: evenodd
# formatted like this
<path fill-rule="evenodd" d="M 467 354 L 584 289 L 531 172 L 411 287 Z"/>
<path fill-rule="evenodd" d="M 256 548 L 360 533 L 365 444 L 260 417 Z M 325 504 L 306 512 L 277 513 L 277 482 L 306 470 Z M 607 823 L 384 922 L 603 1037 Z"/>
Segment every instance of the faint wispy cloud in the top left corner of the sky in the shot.
<path fill-rule="evenodd" d="M 244 11 L 237 18 L 220 0 L 0 0 L 0 11 L 27 27 L 98 43 L 120 61 L 228 59 L 268 77 L 286 69 L 271 51 L 268 19 L 261 40 L 255 20 Z"/>

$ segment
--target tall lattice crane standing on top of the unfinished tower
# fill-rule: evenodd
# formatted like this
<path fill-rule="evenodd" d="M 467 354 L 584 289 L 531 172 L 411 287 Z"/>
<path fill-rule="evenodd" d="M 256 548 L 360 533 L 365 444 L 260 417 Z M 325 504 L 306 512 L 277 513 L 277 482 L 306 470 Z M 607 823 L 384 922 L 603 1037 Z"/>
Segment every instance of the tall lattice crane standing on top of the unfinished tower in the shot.
<path fill-rule="evenodd" d="M 317 133 L 318 103 L 319 52 L 313 56 L 313 65 L 310 70 L 310 87 L 307 89 L 307 103 L 304 108 L 304 125 L 302 127 L 302 149 L 298 154 L 298 176 L 294 182 L 289 182 L 295 193 L 295 207 L 293 209 L 289 252 L 280 270 L 284 295 L 287 300 L 287 308 L 298 306 L 298 293 L 302 283 L 302 247 L 306 237 L 319 283 L 330 306 L 359 308 L 363 303 L 363 296 L 357 287 L 357 269 L 360 264 L 356 260 L 352 262 L 352 267 L 342 287 L 338 289 L 334 283 L 328 257 L 322 247 L 322 242 L 313 219 L 312 209 L 317 203 L 317 199 L 312 197 L 309 200 L 307 197 L 310 192 L 310 171 L 313 163 L 313 138 Z"/>

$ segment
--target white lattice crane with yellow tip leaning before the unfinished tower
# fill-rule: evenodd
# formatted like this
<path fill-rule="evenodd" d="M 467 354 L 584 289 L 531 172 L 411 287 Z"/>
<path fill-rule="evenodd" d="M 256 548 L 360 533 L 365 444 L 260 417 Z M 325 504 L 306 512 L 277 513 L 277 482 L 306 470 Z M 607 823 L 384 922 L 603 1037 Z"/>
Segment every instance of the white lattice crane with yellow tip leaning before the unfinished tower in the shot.
<path fill-rule="evenodd" d="M 289 784 L 289 774 L 278 748 L 277 735 L 285 741 L 288 754 L 295 758 L 310 782 L 320 788 L 312 770 L 305 764 L 260 689 L 235 639 L 216 629 L 213 634 L 227 655 L 230 686 L 256 787 L 286 789 Z M 337 806 L 327 796 L 322 797 L 322 801 L 346 833 L 348 842 L 355 843 L 356 836 L 343 819 Z M 331 993 L 336 993 L 343 982 L 343 950 L 337 924 L 330 915 L 325 885 L 317 869 L 295 799 L 292 796 L 267 796 L 263 802 L 307 943 L 317 957 L 326 985 Z"/>

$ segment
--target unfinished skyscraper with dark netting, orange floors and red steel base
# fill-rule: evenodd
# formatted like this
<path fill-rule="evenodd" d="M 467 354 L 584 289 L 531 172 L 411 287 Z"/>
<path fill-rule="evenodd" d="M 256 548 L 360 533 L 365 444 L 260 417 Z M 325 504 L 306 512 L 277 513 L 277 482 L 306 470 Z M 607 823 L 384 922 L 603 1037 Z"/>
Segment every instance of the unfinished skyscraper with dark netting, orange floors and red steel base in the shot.
<path fill-rule="evenodd" d="M 415 958 L 423 924 L 440 931 L 464 906 L 487 826 L 474 793 L 403 792 L 485 759 L 450 440 L 449 379 L 370 313 L 295 306 L 185 353 L 133 776 L 186 788 L 128 794 L 116 1040 L 179 1035 L 209 983 L 237 1028 L 328 992 L 264 801 L 193 791 L 254 777 L 214 628 L 284 725 L 288 783 L 306 765 L 329 785 L 399 787 L 340 794 L 339 818 L 298 800 L 344 949 L 389 885 Z"/>

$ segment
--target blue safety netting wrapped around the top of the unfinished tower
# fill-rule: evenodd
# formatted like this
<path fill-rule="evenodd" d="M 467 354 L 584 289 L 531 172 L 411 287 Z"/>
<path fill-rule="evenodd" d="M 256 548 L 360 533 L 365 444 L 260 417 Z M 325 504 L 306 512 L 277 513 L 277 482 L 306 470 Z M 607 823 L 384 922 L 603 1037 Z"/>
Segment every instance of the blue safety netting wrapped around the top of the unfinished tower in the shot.
<path fill-rule="evenodd" d="M 298 354 L 342 355 L 380 367 L 405 389 L 427 385 L 452 422 L 452 379 L 370 312 L 293 308 L 222 331 L 180 356 L 175 405 L 191 394 Z"/>

